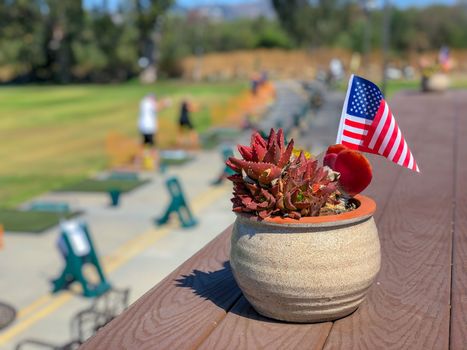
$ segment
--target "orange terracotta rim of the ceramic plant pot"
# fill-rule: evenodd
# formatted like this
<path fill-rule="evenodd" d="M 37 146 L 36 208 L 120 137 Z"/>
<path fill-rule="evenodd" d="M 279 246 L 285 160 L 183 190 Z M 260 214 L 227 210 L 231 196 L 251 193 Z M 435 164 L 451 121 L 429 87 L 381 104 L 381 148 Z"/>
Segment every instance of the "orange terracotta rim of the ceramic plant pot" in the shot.
<path fill-rule="evenodd" d="M 267 217 L 264 220 L 259 220 L 256 215 L 246 214 L 246 213 L 235 213 L 237 217 L 246 219 L 251 222 L 258 222 L 272 226 L 332 226 L 332 225 L 345 225 L 358 221 L 363 221 L 371 216 L 373 216 L 376 211 L 375 201 L 364 195 L 356 195 L 354 197 L 360 202 L 360 205 L 357 209 L 336 214 L 336 215 L 324 215 L 324 216 L 307 216 L 300 219 L 291 219 L 291 218 L 282 218 L 280 216 Z"/>

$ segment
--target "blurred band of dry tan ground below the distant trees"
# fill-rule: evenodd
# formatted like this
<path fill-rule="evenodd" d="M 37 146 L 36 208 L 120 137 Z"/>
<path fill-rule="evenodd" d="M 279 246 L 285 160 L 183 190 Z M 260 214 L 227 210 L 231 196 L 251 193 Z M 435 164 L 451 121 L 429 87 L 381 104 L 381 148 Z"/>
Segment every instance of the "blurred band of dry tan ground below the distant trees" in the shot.
<path fill-rule="evenodd" d="M 257 49 L 230 52 L 209 53 L 191 56 L 182 60 L 183 76 L 186 79 L 229 80 L 248 79 L 253 74 L 265 71 L 271 79 L 314 79 L 318 71 L 326 72 L 332 58 L 339 58 L 346 71 L 364 74 L 371 80 L 381 77 L 383 62 L 381 52 L 375 50 L 369 58 L 369 65 L 359 64 L 351 68 L 352 52 L 339 48 L 321 48 L 309 50 Z M 438 51 L 427 51 L 422 56 L 416 53 L 405 58 L 393 58 L 390 67 L 402 69 L 410 66 L 418 72 L 420 59 L 435 65 Z M 452 73 L 467 74 L 467 50 L 452 50 Z"/>

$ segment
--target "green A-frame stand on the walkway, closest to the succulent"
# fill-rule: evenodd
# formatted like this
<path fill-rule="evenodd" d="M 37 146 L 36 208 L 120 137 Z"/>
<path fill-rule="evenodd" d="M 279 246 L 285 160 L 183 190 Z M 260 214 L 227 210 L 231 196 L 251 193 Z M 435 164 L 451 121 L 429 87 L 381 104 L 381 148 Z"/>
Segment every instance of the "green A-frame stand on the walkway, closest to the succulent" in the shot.
<path fill-rule="evenodd" d="M 166 181 L 166 185 L 172 199 L 164 215 L 162 215 L 159 219 L 156 219 L 156 224 L 166 224 L 169 221 L 170 215 L 173 212 L 176 212 L 182 227 L 195 226 L 197 221 L 191 214 L 190 208 L 188 208 L 187 201 L 185 200 L 185 196 L 178 179 L 176 177 L 171 177 Z"/>

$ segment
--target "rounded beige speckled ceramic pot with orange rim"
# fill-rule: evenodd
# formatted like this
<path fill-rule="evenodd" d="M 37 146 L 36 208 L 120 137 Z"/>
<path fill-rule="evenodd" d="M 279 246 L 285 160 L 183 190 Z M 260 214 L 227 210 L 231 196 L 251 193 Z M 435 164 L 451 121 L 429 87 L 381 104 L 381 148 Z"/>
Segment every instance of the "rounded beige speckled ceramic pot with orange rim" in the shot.
<path fill-rule="evenodd" d="M 335 320 L 355 311 L 381 263 L 375 202 L 300 220 L 238 214 L 232 232 L 233 275 L 260 314 L 290 322 Z"/>

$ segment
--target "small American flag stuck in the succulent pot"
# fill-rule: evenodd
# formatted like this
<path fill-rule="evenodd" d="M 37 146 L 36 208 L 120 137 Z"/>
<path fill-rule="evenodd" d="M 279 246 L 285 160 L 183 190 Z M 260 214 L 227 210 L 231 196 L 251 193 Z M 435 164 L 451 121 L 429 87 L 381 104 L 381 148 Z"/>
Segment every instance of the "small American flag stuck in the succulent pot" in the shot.
<path fill-rule="evenodd" d="M 336 143 L 382 155 L 420 172 L 381 91 L 371 81 L 355 75 L 349 80 Z"/>

